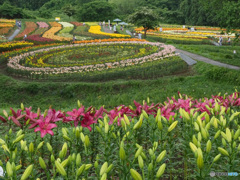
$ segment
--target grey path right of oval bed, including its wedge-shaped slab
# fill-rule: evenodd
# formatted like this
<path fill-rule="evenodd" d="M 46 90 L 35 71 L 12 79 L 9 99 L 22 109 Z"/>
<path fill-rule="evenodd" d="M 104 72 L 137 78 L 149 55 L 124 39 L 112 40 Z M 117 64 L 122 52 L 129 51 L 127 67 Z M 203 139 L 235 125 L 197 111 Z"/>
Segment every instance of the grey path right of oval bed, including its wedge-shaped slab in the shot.
<path fill-rule="evenodd" d="M 214 66 L 220 66 L 220 67 L 225 67 L 225 68 L 228 68 L 228 69 L 240 70 L 240 67 L 238 67 L 238 66 L 233 66 L 233 65 L 221 63 L 221 62 L 218 62 L 218 61 L 214 61 L 212 59 L 209 59 L 209 58 L 197 55 L 197 54 L 193 54 L 193 53 L 190 53 L 188 51 L 176 49 L 176 52 L 179 53 L 180 57 L 184 61 L 186 61 L 188 63 L 188 65 L 193 65 L 193 64 L 197 63 L 197 61 L 202 61 L 202 62 L 205 62 L 205 63 L 208 63 L 208 64 L 212 64 Z M 197 61 L 195 61 L 193 59 L 195 59 Z"/>

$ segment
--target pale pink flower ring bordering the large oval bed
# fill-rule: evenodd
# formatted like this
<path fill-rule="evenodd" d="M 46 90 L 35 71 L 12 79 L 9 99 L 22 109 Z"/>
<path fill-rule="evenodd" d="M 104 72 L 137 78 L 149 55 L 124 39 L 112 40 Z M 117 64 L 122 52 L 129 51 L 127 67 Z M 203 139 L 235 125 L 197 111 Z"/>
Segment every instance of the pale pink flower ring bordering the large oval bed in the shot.
<path fill-rule="evenodd" d="M 119 63 L 108 63 L 108 64 L 96 64 L 96 65 L 89 65 L 89 66 L 79 66 L 79 67 L 72 67 L 72 68 L 65 68 L 65 67 L 60 67 L 60 68 L 34 68 L 34 67 L 25 67 L 24 65 L 19 64 L 20 61 L 24 61 L 24 59 L 28 56 L 28 58 L 32 58 L 31 56 L 35 56 L 36 53 L 40 53 L 40 52 L 48 52 L 50 50 L 54 50 L 54 49 L 64 49 L 65 48 L 74 48 L 74 47 L 84 47 L 86 46 L 86 44 L 82 43 L 82 44 L 75 44 L 75 45 L 65 45 L 65 46 L 60 46 L 60 47 L 54 47 L 54 48 L 48 48 L 48 49 L 42 49 L 42 50 L 38 50 L 38 51 L 33 51 L 31 53 L 25 53 L 21 56 L 16 56 L 13 57 L 11 59 L 9 59 L 9 63 L 8 63 L 8 67 L 11 67 L 15 70 L 26 70 L 26 71 L 31 71 L 32 73 L 41 73 L 41 71 L 44 71 L 44 73 L 47 74 L 52 74 L 52 73 L 76 73 L 76 72 L 85 72 L 85 71 L 101 71 L 104 70 L 106 68 L 109 68 L 109 66 L 111 66 L 112 68 L 117 68 L 117 67 L 121 67 L 121 66 L 131 66 L 131 65 L 135 65 L 135 64 L 141 64 L 144 63 L 148 60 L 154 61 L 154 60 L 158 60 L 160 57 L 163 58 L 164 56 L 172 56 L 175 48 L 173 46 L 165 46 L 161 43 L 149 43 L 149 42 L 106 42 L 106 43 L 92 43 L 91 45 L 111 45 L 111 44 L 128 44 L 128 43 L 132 43 L 132 44 L 146 44 L 146 45 L 153 45 L 153 46 L 157 46 L 157 47 L 162 47 L 164 50 L 163 51 L 159 51 L 157 53 L 154 53 L 150 56 L 147 57 L 142 57 L 142 58 L 137 58 L 137 59 L 129 59 L 129 60 L 121 60 Z M 98 49 L 101 48 L 101 46 L 96 46 Z M 94 49 L 96 48 L 94 46 Z M 107 47 L 106 47 L 107 48 Z M 71 49 L 70 49 L 71 51 Z M 87 49 L 86 49 L 87 51 Z M 100 51 L 100 50 L 99 50 Z M 93 57 L 93 59 L 95 59 Z M 44 65 L 41 60 L 37 60 L 37 62 L 41 63 L 37 63 L 36 65 L 39 67 L 48 67 L 48 65 Z M 56 65 L 57 66 L 57 65 Z M 55 67 L 56 67 L 55 66 Z"/>

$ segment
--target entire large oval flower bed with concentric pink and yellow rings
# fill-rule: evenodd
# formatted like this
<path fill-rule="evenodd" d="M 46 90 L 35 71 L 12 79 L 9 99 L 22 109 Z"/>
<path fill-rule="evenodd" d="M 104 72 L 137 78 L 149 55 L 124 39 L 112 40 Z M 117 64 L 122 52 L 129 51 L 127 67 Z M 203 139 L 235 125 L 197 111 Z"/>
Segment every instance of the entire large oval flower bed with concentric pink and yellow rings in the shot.
<path fill-rule="evenodd" d="M 64 45 L 10 58 L 8 72 L 34 79 L 72 81 L 154 78 L 187 68 L 181 58 L 175 57 L 174 49 L 141 41 Z"/>

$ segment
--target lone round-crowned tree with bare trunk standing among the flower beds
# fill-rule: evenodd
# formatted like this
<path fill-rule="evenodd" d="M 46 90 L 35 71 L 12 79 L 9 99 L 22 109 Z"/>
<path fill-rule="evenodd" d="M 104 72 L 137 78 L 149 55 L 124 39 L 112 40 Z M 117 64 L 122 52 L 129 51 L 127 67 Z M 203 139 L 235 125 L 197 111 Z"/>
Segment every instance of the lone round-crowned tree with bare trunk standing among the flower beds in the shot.
<path fill-rule="evenodd" d="M 144 38 L 146 38 L 147 30 L 154 29 L 158 25 L 158 17 L 152 9 L 142 7 L 128 17 L 128 22 L 143 26 Z"/>

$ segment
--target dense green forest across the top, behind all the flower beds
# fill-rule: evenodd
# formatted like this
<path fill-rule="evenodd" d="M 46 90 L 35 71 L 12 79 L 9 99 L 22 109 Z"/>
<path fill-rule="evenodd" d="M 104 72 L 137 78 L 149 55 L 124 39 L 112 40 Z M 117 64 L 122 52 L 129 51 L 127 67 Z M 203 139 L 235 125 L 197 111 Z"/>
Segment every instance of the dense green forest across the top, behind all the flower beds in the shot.
<path fill-rule="evenodd" d="M 78 21 L 126 20 L 138 8 L 148 7 L 160 23 L 240 27 L 240 0 L 0 0 L 0 4 L 2 18 L 48 19 L 56 11 Z"/>

